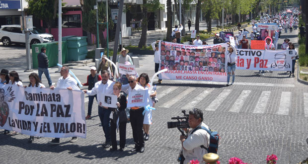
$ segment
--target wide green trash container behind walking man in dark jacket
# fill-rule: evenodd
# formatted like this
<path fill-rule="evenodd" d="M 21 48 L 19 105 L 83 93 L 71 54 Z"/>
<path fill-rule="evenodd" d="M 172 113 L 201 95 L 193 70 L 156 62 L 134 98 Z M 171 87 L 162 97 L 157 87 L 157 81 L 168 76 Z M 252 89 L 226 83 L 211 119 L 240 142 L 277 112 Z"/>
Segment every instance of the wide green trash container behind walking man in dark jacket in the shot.
<path fill-rule="evenodd" d="M 46 47 L 46 55 L 49 60 L 49 67 L 55 67 L 58 64 L 58 42 L 48 42 L 32 45 L 32 61 L 33 69 L 38 68 L 37 55 L 41 52 L 41 48 Z M 39 49 L 39 53 L 37 53 Z M 68 49 L 67 42 L 62 42 L 62 64 L 68 63 Z"/>

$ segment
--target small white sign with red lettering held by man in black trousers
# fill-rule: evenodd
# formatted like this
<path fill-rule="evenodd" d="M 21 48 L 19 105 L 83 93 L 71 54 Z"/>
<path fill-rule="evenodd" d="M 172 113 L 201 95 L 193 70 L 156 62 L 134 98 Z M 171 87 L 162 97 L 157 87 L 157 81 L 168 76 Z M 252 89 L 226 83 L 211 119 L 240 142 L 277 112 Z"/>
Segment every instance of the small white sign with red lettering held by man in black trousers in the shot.
<path fill-rule="evenodd" d="M 148 102 L 148 95 L 148 89 L 129 92 L 127 107 L 146 106 Z"/>

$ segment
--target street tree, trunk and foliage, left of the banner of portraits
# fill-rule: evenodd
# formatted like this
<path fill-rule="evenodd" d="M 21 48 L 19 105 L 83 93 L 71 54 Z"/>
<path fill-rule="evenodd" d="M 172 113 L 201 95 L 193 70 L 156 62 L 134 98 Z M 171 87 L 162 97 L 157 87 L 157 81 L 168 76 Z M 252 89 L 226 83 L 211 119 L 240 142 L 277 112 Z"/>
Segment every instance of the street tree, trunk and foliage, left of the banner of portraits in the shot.
<path fill-rule="evenodd" d="M 159 0 L 143 0 L 142 4 L 142 31 L 141 38 L 138 44 L 139 48 L 147 45 L 147 31 L 148 31 L 148 23 L 149 17 L 148 12 L 154 12 L 155 10 L 162 8 Z"/>

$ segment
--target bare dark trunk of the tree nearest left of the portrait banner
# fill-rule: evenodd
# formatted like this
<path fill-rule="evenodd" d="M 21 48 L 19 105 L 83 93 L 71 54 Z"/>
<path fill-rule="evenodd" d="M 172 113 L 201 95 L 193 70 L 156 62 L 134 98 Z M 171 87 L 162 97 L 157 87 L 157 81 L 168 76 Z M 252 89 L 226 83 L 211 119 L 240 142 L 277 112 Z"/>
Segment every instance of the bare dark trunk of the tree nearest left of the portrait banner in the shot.
<path fill-rule="evenodd" d="M 147 0 L 143 0 L 143 4 L 147 4 Z M 147 30 L 148 30 L 148 14 L 147 6 L 143 5 L 142 7 L 142 31 L 141 38 L 138 44 L 138 48 L 142 48 L 147 45 Z"/>

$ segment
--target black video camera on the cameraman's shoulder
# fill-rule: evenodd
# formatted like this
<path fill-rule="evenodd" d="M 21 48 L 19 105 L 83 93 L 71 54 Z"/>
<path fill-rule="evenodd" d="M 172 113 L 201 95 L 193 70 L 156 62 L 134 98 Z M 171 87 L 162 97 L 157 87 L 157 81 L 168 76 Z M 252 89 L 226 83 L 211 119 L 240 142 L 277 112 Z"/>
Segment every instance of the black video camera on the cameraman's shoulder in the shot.
<path fill-rule="evenodd" d="M 189 128 L 189 124 L 188 124 L 188 114 L 186 114 L 185 110 L 182 110 L 183 113 L 183 117 L 177 116 L 177 117 L 171 117 L 171 120 L 177 120 L 175 122 L 167 122 L 167 126 L 168 128 L 177 128 L 183 136 L 186 137 L 186 135 L 184 134 L 184 131 L 182 128 Z"/>

